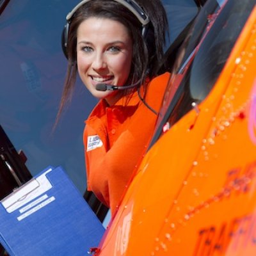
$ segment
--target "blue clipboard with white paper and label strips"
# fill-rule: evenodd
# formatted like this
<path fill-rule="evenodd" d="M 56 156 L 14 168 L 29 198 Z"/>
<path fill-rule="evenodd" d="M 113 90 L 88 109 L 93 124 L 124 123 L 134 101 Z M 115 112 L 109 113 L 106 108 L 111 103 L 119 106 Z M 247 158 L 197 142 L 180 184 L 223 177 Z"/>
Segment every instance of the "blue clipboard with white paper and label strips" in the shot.
<path fill-rule="evenodd" d="M 0 243 L 10 256 L 84 256 L 104 231 L 60 166 L 50 166 L 1 200 Z"/>

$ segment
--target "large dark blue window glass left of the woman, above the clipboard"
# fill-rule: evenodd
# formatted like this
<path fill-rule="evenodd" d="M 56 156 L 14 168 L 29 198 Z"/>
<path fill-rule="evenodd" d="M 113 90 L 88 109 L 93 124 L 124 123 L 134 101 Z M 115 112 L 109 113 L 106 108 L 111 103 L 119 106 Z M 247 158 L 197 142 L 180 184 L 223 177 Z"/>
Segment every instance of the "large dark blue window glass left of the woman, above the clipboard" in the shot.
<path fill-rule="evenodd" d="M 28 157 L 32 175 L 61 165 L 83 193 L 83 120 L 96 100 L 79 79 L 72 103 L 51 132 L 67 66 L 61 32 L 67 13 L 79 0 L 4 2 L 8 4 L 0 15 L 0 124 L 15 148 Z"/>

